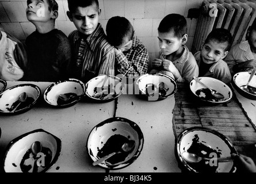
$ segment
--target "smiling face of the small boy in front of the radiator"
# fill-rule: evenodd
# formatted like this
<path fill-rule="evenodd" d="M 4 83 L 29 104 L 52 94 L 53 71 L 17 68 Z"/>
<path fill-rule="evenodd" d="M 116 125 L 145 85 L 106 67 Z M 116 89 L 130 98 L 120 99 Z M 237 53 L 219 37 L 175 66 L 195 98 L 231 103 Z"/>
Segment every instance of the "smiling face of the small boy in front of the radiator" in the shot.
<path fill-rule="evenodd" d="M 202 61 L 205 64 L 219 62 L 220 59 L 227 56 L 228 51 L 225 51 L 226 48 L 227 43 L 217 43 L 216 41 L 210 40 L 208 43 L 202 45 Z"/>

